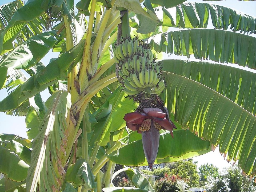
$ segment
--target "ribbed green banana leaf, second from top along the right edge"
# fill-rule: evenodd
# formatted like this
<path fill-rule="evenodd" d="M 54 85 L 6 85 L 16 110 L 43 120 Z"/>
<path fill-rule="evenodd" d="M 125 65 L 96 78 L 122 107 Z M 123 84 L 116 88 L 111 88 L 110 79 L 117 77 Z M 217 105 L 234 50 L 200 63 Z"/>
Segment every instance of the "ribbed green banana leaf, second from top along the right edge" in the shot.
<path fill-rule="evenodd" d="M 154 50 L 221 63 L 236 63 L 256 69 L 256 39 L 249 35 L 216 29 L 170 31 L 152 38 Z"/>

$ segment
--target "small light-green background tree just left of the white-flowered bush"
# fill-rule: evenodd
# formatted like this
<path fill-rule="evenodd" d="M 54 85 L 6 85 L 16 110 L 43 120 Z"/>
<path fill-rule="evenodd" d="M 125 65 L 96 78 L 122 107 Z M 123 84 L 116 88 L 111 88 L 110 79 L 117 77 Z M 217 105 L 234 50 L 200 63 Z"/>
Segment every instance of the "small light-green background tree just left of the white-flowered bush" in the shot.
<path fill-rule="evenodd" d="M 211 176 L 216 178 L 219 176 L 218 167 L 213 166 L 213 164 L 203 164 L 199 168 L 199 177 L 200 177 L 200 186 L 205 186 L 205 182 L 207 181 L 207 177 Z"/>

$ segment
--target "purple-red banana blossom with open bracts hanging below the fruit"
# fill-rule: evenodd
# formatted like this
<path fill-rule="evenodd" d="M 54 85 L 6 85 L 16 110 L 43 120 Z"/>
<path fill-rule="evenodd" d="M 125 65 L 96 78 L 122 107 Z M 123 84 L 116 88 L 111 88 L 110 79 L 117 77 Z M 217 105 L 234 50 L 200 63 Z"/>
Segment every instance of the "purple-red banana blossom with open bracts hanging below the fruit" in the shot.
<path fill-rule="evenodd" d="M 164 107 L 166 113 L 159 108 L 144 108 L 140 113 L 135 111 L 133 113 L 125 114 L 126 126 L 138 133 L 142 134 L 142 144 L 144 154 L 150 169 L 157 157 L 159 147 L 159 130 L 169 130 L 173 137 L 173 129 L 176 129 L 173 122 L 169 119 L 168 110 Z"/>

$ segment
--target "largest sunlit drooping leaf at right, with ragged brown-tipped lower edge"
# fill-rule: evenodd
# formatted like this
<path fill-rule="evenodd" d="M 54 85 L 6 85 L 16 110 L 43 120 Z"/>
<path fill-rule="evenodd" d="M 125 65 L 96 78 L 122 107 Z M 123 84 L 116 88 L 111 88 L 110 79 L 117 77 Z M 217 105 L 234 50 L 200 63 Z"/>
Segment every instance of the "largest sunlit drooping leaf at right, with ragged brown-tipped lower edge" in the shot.
<path fill-rule="evenodd" d="M 218 145 L 228 161 L 239 159 L 246 174 L 256 172 L 256 117 L 218 92 L 186 77 L 166 73 L 167 109 L 182 127 Z"/>

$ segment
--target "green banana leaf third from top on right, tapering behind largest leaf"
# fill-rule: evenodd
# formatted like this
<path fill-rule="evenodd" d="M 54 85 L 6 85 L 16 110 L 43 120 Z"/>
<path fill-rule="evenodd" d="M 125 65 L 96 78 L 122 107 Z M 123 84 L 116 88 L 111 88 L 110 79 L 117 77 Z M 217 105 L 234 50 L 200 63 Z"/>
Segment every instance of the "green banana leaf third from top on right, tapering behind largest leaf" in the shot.
<path fill-rule="evenodd" d="M 162 71 L 197 81 L 256 115 L 256 73 L 218 63 L 162 60 Z"/>

